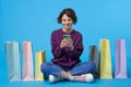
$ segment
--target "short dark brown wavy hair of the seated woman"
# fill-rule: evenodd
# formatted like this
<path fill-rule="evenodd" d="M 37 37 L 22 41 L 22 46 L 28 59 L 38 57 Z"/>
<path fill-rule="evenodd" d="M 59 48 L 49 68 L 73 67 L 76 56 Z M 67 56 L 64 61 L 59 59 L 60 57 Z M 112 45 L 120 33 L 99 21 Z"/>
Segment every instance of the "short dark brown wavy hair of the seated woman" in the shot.
<path fill-rule="evenodd" d="M 62 18 L 63 14 L 68 15 L 70 18 L 72 18 L 73 24 L 76 24 L 76 21 L 78 21 L 76 14 L 72 9 L 63 9 L 63 11 L 59 14 L 59 16 L 57 18 L 59 24 L 61 24 L 61 18 Z"/>

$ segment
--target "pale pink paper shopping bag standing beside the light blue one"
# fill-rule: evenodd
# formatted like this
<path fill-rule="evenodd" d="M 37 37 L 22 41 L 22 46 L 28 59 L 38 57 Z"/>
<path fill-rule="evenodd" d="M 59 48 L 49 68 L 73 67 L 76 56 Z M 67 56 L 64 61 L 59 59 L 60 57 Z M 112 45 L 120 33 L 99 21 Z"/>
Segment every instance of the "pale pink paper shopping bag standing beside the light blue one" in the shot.
<path fill-rule="evenodd" d="M 23 64 L 22 64 L 23 80 L 34 80 L 32 48 L 33 48 L 33 45 L 31 41 L 23 41 Z"/>

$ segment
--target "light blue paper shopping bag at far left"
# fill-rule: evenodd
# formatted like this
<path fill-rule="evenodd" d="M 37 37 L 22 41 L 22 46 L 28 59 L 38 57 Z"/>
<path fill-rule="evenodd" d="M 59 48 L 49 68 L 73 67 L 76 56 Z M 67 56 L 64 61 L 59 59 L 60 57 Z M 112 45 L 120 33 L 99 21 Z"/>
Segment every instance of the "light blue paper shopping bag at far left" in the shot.
<path fill-rule="evenodd" d="M 10 82 L 21 80 L 20 48 L 16 41 L 5 42 L 8 76 Z"/>

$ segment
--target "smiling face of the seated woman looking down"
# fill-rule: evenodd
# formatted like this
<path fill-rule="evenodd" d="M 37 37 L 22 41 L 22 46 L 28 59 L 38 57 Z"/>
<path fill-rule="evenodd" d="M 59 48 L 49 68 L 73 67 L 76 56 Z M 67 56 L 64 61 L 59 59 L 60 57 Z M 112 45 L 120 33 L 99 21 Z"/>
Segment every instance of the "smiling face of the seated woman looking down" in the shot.
<path fill-rule="evenodd" d="M 63 28 L 70 29 L 72 27 L 73 21 L 71 17 L 63 14 L 61 17 L 61 24 L 63 25 Z"/>

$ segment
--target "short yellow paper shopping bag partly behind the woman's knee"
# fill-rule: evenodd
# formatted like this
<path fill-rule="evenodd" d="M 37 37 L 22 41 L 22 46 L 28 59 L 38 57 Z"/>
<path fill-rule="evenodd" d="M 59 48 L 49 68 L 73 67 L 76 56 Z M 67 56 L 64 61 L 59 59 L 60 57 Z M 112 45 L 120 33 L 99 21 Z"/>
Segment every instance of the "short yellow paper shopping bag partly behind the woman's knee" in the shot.
<path fill-rule="evenodd" d="M 46 62 L 46 53 L 39 50 L 35 53 L 35 80 L 44 80 L 44 74 L 40 71 L 41 63 Z"/>

